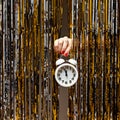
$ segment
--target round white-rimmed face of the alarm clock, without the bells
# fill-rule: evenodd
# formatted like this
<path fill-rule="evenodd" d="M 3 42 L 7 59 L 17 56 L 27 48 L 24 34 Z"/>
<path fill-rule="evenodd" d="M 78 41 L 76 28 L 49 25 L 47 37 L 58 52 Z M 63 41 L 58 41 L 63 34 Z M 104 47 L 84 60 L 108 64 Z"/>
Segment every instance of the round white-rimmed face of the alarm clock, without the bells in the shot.
<path fill-rule="evenodd" d="M 55 78 L 61 86 L 70 87 L 76 83 L 78 79 L 78 71 L 73 65 L 64 63 L 56 69 Z"/>

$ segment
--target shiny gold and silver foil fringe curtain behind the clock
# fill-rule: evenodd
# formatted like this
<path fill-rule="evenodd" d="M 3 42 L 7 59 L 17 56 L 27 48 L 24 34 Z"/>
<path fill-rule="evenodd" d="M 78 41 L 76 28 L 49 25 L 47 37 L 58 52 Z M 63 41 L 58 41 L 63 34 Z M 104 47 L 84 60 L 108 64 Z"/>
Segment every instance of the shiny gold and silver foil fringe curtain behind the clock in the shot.
<path fill-rule="evenodd" d="M 68 88 L 62 119 L 120 119 L 120 1 L 67 0 L 68 16 L 63 3 L 0 1 L 0 120 L 61 118 L 53 44 L 61 37 L 63 17 L 79 79 Z"/>

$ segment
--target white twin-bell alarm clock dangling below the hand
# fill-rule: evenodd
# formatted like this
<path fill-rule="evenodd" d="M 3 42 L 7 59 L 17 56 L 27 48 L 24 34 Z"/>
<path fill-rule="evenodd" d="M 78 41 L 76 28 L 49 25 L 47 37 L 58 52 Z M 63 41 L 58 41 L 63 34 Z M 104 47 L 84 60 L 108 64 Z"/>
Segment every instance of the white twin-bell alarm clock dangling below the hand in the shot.
<path fill-rule="evenodd" d="M 74 59 L 56 61 L 55 79 L 60 86 L 71 87 L 78 80 L 77 61 Z"/>

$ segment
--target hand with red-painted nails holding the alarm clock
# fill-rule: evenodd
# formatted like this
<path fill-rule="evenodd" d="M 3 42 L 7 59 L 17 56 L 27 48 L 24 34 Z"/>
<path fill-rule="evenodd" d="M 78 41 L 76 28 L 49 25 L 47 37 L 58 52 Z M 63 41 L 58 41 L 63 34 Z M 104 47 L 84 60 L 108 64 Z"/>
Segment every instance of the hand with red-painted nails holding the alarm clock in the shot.
<path fill-rule="evenodd" d="M 68 37 L 56 39 L 54 42 L 54 50 L 64 56 L 68 56 L 73 46 L 73 40 Z"/>

